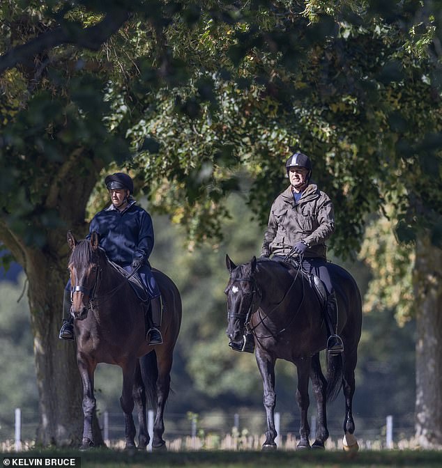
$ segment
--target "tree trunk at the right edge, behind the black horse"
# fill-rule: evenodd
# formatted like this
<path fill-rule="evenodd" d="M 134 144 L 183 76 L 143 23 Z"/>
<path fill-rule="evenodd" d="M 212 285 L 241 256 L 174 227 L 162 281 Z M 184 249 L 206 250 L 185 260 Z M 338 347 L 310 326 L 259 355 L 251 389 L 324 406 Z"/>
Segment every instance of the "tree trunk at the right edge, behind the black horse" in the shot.
<path fill-rule="evenodd" d="M 442 446 L 442 250 L 418 240 L 413 276 L 416 297 L 416 438 L 422 448 Z"/>

